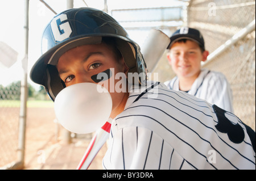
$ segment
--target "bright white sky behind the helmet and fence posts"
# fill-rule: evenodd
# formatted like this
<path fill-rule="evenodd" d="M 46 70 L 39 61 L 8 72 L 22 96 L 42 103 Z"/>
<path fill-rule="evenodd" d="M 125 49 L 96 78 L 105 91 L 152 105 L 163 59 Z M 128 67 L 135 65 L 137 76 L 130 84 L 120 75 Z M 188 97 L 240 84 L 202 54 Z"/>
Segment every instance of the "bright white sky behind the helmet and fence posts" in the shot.
<path fill-rule="evenodd" d="M 67 7 L 65 0 L 44 0 L 57 13 Z M 104 9 L 104 0 L 74 0 L 74 7 L 88 5 L 96 9 Z M 108 10 L 112 9 L 137 9 L 145 7 L 171 7 L 180 3 L 172 0 L 108 0 Z M 39 0 L 30 0 L 29 11 L 29 41 L 28 41 L 28 83 L 36 86 L 29 78 L 30 69 L 41 55 L 40 41 L 44 27 L 55 15 Z M 6 68 L 0 61 L 0 85 L 6 86 L 11 82 L 19 81 L 23 75 L 22 59 L 24 58 L 24 0 L 0 0 L 0 41 L 6 43 L 16 52 L 18 58 L 10 68 Z M 130 35 L 131 36 L 131 35 Z M 142 43 L 133 33 L 131 39 Z"/>

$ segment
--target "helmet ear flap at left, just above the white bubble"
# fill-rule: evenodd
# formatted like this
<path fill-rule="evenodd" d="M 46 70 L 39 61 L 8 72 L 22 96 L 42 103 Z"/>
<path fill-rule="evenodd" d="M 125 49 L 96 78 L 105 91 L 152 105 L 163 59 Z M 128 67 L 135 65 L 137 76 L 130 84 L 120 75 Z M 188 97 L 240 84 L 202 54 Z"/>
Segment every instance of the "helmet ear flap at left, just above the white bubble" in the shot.
<path fill-rule="evenodd" d="M 46 67 L 47 74 L 47 92 L 49 92 L 50 98 L 54 101 L 57 94 L 63 90 L 66 86 L 65 83 L 61 80 L 59 71 L 56 66 L 48 64 Z"/>

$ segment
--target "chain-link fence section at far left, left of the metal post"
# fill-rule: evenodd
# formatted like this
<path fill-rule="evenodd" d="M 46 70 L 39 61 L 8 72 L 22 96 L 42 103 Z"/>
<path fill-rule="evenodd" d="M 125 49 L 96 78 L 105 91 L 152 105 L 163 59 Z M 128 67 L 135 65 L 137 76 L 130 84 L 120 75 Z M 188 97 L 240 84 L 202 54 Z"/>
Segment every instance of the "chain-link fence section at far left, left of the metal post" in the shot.
<path fill-rule="evenodd" d="M 19 97 L 20 86 L 0 83 L 0 167 L 17 159 Z"/>

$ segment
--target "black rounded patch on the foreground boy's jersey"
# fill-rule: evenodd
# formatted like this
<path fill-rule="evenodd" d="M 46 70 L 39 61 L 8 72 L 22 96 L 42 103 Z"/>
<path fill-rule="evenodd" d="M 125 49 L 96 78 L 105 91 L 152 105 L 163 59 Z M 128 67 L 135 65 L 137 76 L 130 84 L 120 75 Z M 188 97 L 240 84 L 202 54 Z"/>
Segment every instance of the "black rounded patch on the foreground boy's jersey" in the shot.
<path fill-rule="evenodd" d="M 218 124 L 216 129 L 221 133 L 227 133 L 229 140 L 235 144 L 240 144 L 245 139 L 245 132 L 240 124 L 233 124 L 226 116 L 225 110 L 222 110 L 216 105 L 213 105 L 213 109 L 218 118 Z"/>

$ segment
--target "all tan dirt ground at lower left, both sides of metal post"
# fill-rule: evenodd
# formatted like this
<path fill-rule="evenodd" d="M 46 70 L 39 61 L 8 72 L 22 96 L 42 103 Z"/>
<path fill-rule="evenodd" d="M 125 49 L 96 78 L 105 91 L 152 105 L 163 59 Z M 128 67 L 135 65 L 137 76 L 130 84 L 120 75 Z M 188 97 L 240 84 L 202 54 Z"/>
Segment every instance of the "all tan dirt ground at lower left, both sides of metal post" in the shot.
<path fill-rule="evenodd" d="M 15 117 L 15 119 L 10 119 Z M 18 140 L 19 108 L 0 108 L 0 169 L 6 163 L 2 158 L 13 150 L 16 154 L 18 141 L 11 143 L 11 138 Z M 27 108 L 26 149 L 24 169 L 27 170 L 73 170 L 79 165 L 93 134 L 73 135 L 72 142 L 67 144 L 64 139 L 65 129 L 55 121 L 52 108 Z M 8 127 L 8 128 L 7 128 Z M 10 129 L 12 128 L 12 129 Z M 5 137 L 1 137 L 4 135 Z M 7 151 L 2 151 L 3 149 Z M 106 144 L 98 152 L 89 169 L 102 169 L 101 161 L 106 152 Z M 1 152 L 2 151 L 2 152 Z M 6 153 L 6 154 L 5 154 Z M 10 157 L 15 161 L 13 156 Z"/>

